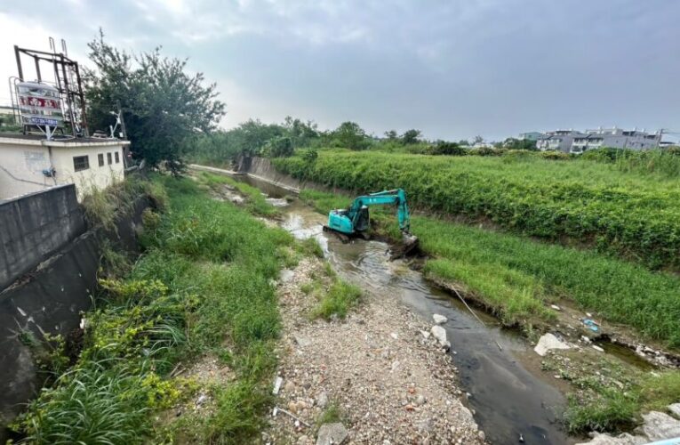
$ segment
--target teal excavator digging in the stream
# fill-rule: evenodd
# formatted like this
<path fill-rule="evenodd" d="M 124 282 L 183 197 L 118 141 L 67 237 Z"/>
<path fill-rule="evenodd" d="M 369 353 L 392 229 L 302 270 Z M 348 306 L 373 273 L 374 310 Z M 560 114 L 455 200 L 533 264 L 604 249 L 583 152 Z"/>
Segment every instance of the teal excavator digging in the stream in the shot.
<path fill-rule="evenodd" d="M 385 205 L 396 206 L 399 229 L 402 231 L 404 240 L 401 255 L 405 255 L 418 245 L 418 239 L 410 231 L 411 215 L 406 204 L 406 192 L 402 189 L 384 190 L 360 196 L 355 198 L 348 208 L 331 210 L 328 214 L 328 225 L 324 226 L 324 231 L 336 232 L 343 240 L 357 235 L 365 239 L 370 225 L 368 207 Z"/>

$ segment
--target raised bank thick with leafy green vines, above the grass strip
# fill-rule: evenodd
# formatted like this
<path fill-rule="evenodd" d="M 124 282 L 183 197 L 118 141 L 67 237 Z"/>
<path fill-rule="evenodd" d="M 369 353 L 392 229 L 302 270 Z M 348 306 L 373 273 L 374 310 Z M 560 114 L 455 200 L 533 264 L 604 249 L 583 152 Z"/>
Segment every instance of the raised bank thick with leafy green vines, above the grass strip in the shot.
<path fill-rule="evenodd" d="M 680 268 L 680 180 L 588 159 L 320 150 L 276 158 L 292 176 L 356 192 L 403 187 L 422 209 Z"/>

